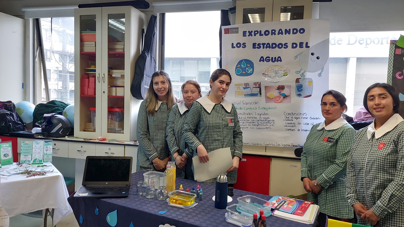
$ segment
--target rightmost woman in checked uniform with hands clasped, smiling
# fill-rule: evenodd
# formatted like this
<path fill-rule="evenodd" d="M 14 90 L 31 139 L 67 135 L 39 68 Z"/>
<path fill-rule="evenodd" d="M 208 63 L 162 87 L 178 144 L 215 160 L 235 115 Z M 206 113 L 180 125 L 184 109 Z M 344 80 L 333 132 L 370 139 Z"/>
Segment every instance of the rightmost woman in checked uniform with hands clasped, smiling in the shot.
<path fill-rule="evenodd" d="M 404 120 L 393 86 L 371 85 L 363 104 L 375 117 L 358 131 L 347 163 L 346 198 L 358 224 L 404 226 Z"/>

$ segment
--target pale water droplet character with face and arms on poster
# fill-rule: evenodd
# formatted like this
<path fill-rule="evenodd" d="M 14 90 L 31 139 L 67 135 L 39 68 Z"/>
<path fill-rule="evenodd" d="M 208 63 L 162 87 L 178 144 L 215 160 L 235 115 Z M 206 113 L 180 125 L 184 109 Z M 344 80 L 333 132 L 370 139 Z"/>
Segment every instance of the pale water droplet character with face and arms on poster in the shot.
<path fill-rule="evenodd" d="M 299 57 L 299 65 L 301 69 L 295 71 L 295 73 L 301 73 L 300 76 L 305 78 L 305 72 L 314 73 L 321 70 L 318 74 L 318 77 L 321 77 L 321 74 L 324 71 L 324 65 L 328 61 L 328 46 L 329 39 L 326 39 L 311 46 L 308 50 L 297 54 L 294 59 L 296 60 Z"/>

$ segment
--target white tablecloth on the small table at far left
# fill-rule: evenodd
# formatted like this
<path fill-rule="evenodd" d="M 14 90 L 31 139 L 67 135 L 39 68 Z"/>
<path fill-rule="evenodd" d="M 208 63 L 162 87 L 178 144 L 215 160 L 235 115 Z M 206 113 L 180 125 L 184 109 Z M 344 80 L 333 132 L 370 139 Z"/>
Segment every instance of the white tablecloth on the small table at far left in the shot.
<path fill-rule="evenodd" d="M 47 164 L 47 163 L 45 163 Z M 15 168 L 15 165 L 2 166 Z M 17 214 L 55 208 L 53 225 L 56 225 L 64 216 L 73 212 L 67 198 L 65 180 L 62 174 L 52 166 L 53 173 L 45 176 L 28 177 L 17 174 L 1 179 L 1 204 L 10 217 Z M 3 176 L 2 176 L 3 177 Z M 48 219 L 48 221 L 52 221 Z"/>

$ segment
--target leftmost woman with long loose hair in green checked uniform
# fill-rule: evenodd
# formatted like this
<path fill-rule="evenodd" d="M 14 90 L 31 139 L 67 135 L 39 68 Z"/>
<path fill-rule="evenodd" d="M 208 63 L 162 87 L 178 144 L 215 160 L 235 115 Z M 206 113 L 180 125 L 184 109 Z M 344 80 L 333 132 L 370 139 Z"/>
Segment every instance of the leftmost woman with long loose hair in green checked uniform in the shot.
<path fill-rule="evenodd" d="M 177 103 L 173 94 L 173 85 L 165 71 L 151 75 L 146 99 L 140 104 L 137 116 L 136 171 L 164 171 L 171 160 L 166 142 L 168 113 Z"/>

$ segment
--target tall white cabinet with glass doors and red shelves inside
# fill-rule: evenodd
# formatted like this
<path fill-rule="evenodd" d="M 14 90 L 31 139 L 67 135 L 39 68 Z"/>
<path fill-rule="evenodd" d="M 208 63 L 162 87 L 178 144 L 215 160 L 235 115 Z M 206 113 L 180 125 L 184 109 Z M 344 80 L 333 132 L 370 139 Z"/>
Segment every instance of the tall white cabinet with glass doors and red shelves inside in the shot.
<path fill-rule="evenodd" d="M 146 15 L 132 6 L 74 10 L 74 135 L 136 139 L 141 100 L 130 94 Z"/>

